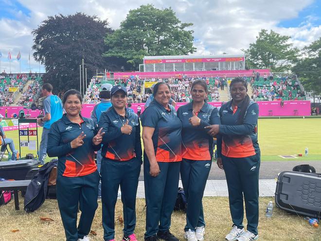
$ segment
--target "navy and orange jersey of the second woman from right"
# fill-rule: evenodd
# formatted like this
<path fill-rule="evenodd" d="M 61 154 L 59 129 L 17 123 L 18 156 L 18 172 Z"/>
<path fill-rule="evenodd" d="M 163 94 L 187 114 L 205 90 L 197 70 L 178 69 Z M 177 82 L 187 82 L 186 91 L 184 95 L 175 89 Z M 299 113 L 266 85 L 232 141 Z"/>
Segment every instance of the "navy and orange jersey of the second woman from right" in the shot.
<path fill-rule="evenodd" d="M 216 107 L 204 103 L 202 109 L 196 113 L 201 119 L 200 125 L 193 127 L 189 118 L 193 116 L 193 102 L 178 108 L 178 118 L 182 122 L 182 158 L 204 161 L 212 160 L 213 137 L 207 134 L 204 127 L 209 125 L 219 125 L 220 119 Z"/>

